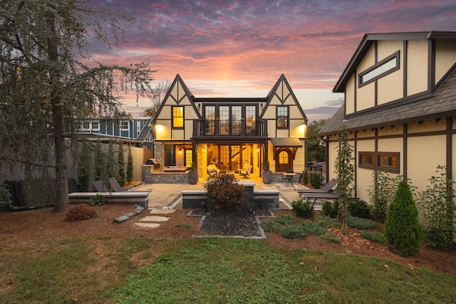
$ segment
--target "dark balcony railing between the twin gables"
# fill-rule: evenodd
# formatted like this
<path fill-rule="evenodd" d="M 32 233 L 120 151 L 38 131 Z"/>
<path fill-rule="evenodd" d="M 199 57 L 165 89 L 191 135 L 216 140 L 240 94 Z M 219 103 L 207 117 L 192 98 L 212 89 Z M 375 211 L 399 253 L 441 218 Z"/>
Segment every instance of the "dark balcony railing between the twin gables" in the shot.
<path fill-rule="evenodd" d="M 193 137 L 267 137 L 266 120 L 193 120 Z"/>

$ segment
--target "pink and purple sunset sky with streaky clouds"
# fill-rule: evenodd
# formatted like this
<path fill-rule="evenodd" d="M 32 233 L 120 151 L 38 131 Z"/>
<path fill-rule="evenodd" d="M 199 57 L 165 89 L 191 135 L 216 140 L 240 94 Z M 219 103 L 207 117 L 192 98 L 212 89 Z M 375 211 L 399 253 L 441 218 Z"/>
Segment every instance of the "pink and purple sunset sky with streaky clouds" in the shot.
<path fill-rule="evenodd" d="M 283 73 L 309 120 L 331 117 L 343 102 L 331 93 L 366 33 L 451 31 L 456 1 L 105 0 L 133 12 L 127 44 L 93 46 L 101 63 L 150 61 L 155 82 L 180 74 L 195 97 L 266 97 Z M 150 101 L 125 98 L 139 115 Z"/>

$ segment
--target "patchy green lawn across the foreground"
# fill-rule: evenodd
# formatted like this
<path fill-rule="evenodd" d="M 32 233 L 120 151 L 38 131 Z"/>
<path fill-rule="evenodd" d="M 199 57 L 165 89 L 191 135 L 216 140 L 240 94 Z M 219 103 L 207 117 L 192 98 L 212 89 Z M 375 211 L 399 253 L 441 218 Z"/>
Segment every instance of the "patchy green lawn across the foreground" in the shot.
<path fill-rule="evenodd" d="M 455 285 L 427 268 L 259 240 L 0 244 L 0 303 L 452 303 Z"/>

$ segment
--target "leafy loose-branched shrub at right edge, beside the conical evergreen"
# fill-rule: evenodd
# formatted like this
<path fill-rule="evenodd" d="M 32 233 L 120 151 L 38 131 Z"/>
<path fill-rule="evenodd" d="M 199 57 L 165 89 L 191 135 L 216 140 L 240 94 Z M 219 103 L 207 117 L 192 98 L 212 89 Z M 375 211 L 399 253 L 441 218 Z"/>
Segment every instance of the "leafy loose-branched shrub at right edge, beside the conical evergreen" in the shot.
<path fill-rule="evenodd" d="M 418 206 L 423 214 L 423 236 L 436 248 L 445 248 L 455 238 L 455 183 L 447 179 L 447 168 L 437 166 L 437 177 L 429 179 L 430 185 L 421 192 Z"/>

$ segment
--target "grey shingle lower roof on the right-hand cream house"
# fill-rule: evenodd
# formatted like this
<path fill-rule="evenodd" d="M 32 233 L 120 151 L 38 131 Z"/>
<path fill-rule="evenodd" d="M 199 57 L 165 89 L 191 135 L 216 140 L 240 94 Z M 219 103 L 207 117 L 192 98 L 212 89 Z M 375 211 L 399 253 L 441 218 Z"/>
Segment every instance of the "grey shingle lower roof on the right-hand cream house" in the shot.
<path fill-rule="evenodd" d="M 326 125 L 321 127 L 319 135 L 338 132 L 344 125 L 350 130 L 357 130 L 456 115 L 456 72 L 453 71 L 429 98 L 349 119 L 345 119 L 344 112 L 345 108 L 342 105 Z"/>

